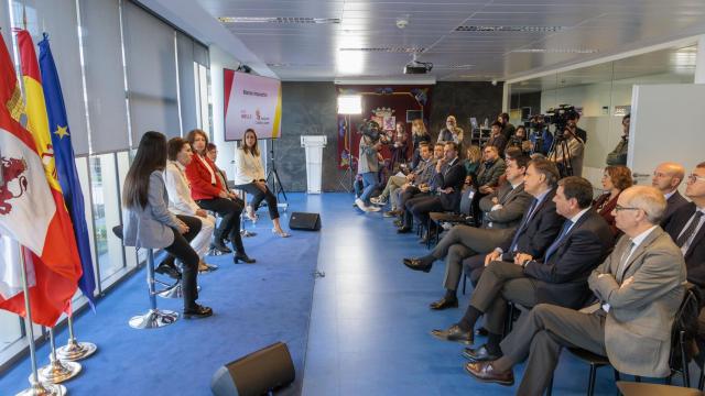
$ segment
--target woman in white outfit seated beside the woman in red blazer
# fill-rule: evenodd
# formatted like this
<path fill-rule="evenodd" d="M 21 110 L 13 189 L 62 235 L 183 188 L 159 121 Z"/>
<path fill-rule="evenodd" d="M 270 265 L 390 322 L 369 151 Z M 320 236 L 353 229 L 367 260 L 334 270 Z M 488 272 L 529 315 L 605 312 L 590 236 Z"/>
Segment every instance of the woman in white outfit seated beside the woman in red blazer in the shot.
<path fill-rule="evenodd" d="M 198 271 L 214 270 L 215 267 L 206 264 L 203 258 L 208 253 L 216 218 L 200 209 L 191 198 L 191 187 L 186 179 L 186 166 L 191 164 L 194 156 L 191 144 L 181 138 L 173 138 L 167 143 L 166 156 L 169 161 L 164 172 L 164 183 L 169 193 L 169 210 L 174 215 L 194 216 L 200 220 L 200 232 L 191 241 L 191 246 L 198 254 Z"/>

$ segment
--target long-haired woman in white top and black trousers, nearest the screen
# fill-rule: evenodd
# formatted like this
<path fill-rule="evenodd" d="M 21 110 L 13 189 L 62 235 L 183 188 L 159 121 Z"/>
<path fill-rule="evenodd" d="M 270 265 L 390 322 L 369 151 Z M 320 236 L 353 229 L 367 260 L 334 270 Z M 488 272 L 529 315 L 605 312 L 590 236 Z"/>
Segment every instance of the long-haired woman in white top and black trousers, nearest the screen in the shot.
<path fill-rule="evenodd" d="M 245 131 L 242 145 L 235 151 L 235 186 L 252 195 L 252 200 L 247 206 L 247 217 L 250 220 L 256 219 L 254 210 L 264 199 L 269 208 L 269 217 L 274 223 L 272 232 L 282 238 L 289 237 L 279 222 L 276 197 L 269 190 L 264 182 L 260 148 L 257 145 L 257 134 L 252 129 Z"/>

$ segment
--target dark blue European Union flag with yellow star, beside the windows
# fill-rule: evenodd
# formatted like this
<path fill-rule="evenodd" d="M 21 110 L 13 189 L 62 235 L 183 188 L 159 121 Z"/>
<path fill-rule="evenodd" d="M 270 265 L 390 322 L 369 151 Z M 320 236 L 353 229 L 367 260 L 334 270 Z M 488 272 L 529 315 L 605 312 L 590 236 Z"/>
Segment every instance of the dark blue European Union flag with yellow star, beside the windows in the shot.
<path fill-rule="evenodd" d="M 94 290 L 96 289 L 96 280 L 90 256 L 88 226 L 86 224 L 86 217 L 84 215 L 84 195 L 80 190 L 78 173 L 76 172 L 76 161 L 74 157 L 74 147 L 70 144 L 70 130 L 68 129 L 66 118 L 64 96 L 62 94 L 62 86 L 58 82 L 58 73 L 56 72 L 52 50 L 48 45 L 48 34 L 44 33 L 44 40 L 40 42 L 39 46 L 44 102 L 48 116 L 52 144 L 54 146 L 58 183 L 62 186 L 64 201 L 70 215 L 70 220 L 74 223 L 76 245 L 80 254 L 80 265 L 84 272 L 78 280 L 78 287 L 95 309 Z"/>

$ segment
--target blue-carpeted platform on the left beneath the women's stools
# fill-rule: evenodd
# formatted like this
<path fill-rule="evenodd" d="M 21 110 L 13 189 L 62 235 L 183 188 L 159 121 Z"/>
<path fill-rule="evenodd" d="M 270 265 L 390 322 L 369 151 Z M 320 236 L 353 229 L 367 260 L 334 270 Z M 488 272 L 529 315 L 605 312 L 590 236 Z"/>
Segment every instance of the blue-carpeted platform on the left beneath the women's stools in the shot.
<path fill-rule="evenodd" d="M 283 213 L 318 211 L 316 200 L 303 194 L 289 197 Z M 281 239 L 271 233 L 265 210 L 245 240 L 257 264 L 232 264 L 231 255 L 207 257 L 220 268 L 200 275 L 199 302 L 213 307 L 212 318 L 178 320 L 155 330 L 133 330 L 127 321 L 147 311 L 144 270 L 111 290 L 97 306 L 76 320 L 79 340 L 98 344 L 99 351 L 83 361 L 84 372 L 65 383 L 70 395 L 209 395 L 210 377 L 223 364 L 276 341 L 289 345 L 297 380 L 284 394 L 300 394 L 312 304 L 313 272 L 319 233 L 293 231 Z M 181 311 L 180 299 L 158 299 L 160 308 Z M 62 345 L 66 331 L 57 337 Z M 39 350 L 45 364 L 48 348 Z M 0 377 L 0 395 L 13 395 L 28 386 L 29 359 Z"/>

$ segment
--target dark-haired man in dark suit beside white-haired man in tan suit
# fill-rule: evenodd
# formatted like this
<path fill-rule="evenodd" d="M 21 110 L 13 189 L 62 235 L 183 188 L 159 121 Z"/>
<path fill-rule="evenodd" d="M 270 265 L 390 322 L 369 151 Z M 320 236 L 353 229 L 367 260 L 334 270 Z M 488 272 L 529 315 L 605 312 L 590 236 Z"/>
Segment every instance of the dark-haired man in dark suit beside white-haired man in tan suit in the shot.
<path fill-rule="evenodd" d="M 586 179 L 561 179 L 553 201 L 556 212 L 566 220 L 544 256 L 520 253 L 513 262 L 491 262 L 480 276 L 463 319 L 446 330 L 433 330 L 434 337 L 473 343 L 475 323 L 485 315 L 488 343 L 466 354 L 476 360 L 495 360 L 501 353 L 507 301 L 524 307 L 550 302 L 571 308 L 586 302 L 587 276 L 609 253 L 612 233 L 605 219 L 592 209 L 593 186 Z"/>

